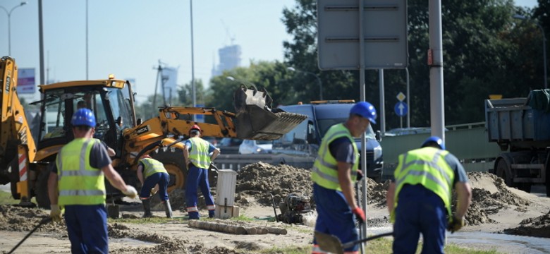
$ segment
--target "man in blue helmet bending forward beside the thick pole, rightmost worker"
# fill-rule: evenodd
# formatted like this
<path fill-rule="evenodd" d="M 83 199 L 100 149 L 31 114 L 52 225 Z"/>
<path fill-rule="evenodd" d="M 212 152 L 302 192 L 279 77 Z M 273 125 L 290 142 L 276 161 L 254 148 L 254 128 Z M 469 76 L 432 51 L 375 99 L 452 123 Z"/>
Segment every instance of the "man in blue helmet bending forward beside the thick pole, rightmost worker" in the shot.
<path fill-rule="evenodd" d="M 472 191 L 458 159 L 445 150 L 441 138 L 432 136 L 420 149 L 399 155 L 386 194 L 393 222 L 393 253 L 415 253 L 422 234 L 422 253 L 444 253 L 445 229 L 453 233 L 464 225 Z M 453 187 L 457 194 L 451 215 Z"/>

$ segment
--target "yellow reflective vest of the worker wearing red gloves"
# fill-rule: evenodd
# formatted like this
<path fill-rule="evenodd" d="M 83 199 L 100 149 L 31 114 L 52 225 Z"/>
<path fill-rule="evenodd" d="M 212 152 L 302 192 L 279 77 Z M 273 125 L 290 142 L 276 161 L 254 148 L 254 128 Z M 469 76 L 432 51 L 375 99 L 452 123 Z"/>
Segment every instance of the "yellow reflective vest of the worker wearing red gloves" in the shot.
<path fill-rule="evenodd" d="M 343 126 L 343 123 L 336 124 L 329 128 L 329 131 L 326 132 L 319 147 L 319 153 L 313 164 L 311 179 L 315 183 L 319 184 L 324 188 L 330 190 L 342 191 L 340 182 L 338 181 L 338 162 L 334 156 L 331 155 L 329 144 L 336 140 L 336 138 L 346 137 L 350 139 L 351 144 L 353 145 L 353 152 L 355 155 L 359 154 L 357 150 L 357 145 L 355 145 L 355 140 L 350 134 L 348 128 Z M 351 181 L 355 183 L 357 179 L 357 169 L 359 168 L 359 156 L 355 156 L 355 162 L 351 169 Z"/>

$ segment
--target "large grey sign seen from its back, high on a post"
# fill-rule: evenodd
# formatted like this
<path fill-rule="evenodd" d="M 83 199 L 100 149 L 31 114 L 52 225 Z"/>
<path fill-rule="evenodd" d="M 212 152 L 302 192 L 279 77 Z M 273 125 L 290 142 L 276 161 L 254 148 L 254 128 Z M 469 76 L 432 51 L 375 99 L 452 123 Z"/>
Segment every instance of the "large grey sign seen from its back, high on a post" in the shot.
<path fill-rule="evenodd" d="M 359 10 L 360 1 L 363 1 L 362 10 Z M 359 38 L 360 27 L 363 38 Z M 406 0 L 317 1 L 321 70 L 357 70 L 361 65 L 360 43 L 365 45 L 362 63 L 365 68 L 406 68 L 407 35 Z"/>

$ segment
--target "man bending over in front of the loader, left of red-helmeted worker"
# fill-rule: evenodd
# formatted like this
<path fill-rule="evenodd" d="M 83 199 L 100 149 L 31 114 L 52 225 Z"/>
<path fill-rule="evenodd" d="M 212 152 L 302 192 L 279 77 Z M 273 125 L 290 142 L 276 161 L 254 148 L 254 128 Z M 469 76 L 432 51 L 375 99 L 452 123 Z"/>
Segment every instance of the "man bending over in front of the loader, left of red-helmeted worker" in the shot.
<path fill-rule="evenodd" d="M 156 186 L 158 186 L 159 198 L 164 205 L 166 217 L 171 218 L 172 207 L 170 206 L 167 191 L 170 176 L 168 175 L 168 171 L 164 169 L 164 164 L 153 159 L 149 155 L 143 155 L 140 162 L 138 162 L 138 179 L 141 182 L 140 200 L 143 204 L 143 210 L 145 211 L 143 217 L 152 217 L 151 200 L 149 196 L 157 193 Z"/>

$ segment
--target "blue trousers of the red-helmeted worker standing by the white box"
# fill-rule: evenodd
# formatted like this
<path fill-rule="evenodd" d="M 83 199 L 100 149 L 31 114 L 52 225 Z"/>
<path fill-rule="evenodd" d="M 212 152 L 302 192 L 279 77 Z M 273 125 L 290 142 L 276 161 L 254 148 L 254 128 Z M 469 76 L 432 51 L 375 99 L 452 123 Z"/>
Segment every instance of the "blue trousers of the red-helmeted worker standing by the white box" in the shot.
<path fill-rule="evenodd" d="M 201 169 L 193 165 L 189 168 L 185 181 L 185 206 L 190 219 L 199 219 L 197 188 L 200 188 L 206 205 L 214 207 L 214 198 L 210 194 L 210 183 L 208 182 L 208 169 Z M 208 217 L 214 217 L 214 210 L 208 210 Z"/>

